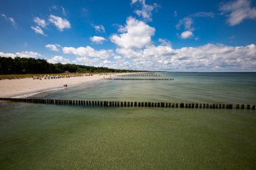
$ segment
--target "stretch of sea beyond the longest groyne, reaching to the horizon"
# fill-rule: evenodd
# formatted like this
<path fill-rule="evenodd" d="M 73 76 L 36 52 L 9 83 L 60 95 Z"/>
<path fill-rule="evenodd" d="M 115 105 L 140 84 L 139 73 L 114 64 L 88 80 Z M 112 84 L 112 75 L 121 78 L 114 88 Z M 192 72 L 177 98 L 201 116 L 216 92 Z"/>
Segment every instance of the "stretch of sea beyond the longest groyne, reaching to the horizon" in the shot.
<path fill-rule="evenodd" d="M 46 91 L 33 97 L 106 101 L 256 103 L 256 73 L 157 74 L 164 78 L 174 78 L 174 81 L 101 80 L 77 85 L 74 88 Z"/>

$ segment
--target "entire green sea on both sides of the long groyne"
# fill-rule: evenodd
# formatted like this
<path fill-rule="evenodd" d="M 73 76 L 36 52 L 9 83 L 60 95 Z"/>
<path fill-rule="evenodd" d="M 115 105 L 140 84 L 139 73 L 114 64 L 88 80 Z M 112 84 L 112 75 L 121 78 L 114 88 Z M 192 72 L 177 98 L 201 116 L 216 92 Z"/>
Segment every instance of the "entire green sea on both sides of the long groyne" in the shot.
<path fill-rule="evenodd" d="M 29 98 L 256 104 L 256 73 L 151 74 L 112 77 L 173 80 L 101 79 Z M 0 101 L 1 169 L 256 169 L 255 141 L 256 110 Z"/>

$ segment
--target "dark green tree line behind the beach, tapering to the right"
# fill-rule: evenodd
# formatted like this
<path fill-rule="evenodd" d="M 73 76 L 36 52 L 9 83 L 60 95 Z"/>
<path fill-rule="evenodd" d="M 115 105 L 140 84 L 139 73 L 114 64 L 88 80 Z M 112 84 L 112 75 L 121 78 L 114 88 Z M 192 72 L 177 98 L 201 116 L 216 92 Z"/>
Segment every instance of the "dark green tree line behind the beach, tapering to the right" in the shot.
<path fill-rule="evenodd" d="M 92 67 L 75 64 L 52 64 L 45 59 L 20 58 L 20 57 L 1 57 L 0 56 L 0 74 L 37 74 L 37 73 L 120 73 L 135 72 L 125 69 L 109 69 L 108 67 Z"/>

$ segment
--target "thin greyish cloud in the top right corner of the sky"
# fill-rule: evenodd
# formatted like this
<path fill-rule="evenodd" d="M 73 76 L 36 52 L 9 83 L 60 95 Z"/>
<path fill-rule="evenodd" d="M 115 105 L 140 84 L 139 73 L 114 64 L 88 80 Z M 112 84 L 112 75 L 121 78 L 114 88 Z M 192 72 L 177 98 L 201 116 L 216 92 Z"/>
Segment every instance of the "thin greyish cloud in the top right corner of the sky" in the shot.
<path fill-rule="evenodd" d="M 235 26 L 243 22 L 244 19 L 256 19 L 256 8 L 251 7 L 249 0 L 236 0 L 220 5 L 220 11 L 228 13 L 227 22 L 230 26 Z"/>

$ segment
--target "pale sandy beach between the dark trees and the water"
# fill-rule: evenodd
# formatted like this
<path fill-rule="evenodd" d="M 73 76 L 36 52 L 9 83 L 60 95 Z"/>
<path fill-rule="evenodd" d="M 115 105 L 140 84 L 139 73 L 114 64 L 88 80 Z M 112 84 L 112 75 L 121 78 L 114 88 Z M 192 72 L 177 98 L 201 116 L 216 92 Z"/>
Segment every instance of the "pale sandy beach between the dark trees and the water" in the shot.
<path fill-rule="evenodd" d="M 97 81 L 113 75 L 93 75 L 83 77 L 70 77 L 61 79 L 5 79 L 0 81 L 0 97 L 24 97 L 22 95 L 38 93 L 49 89 L 67 88 L 80 83 Z"/>

